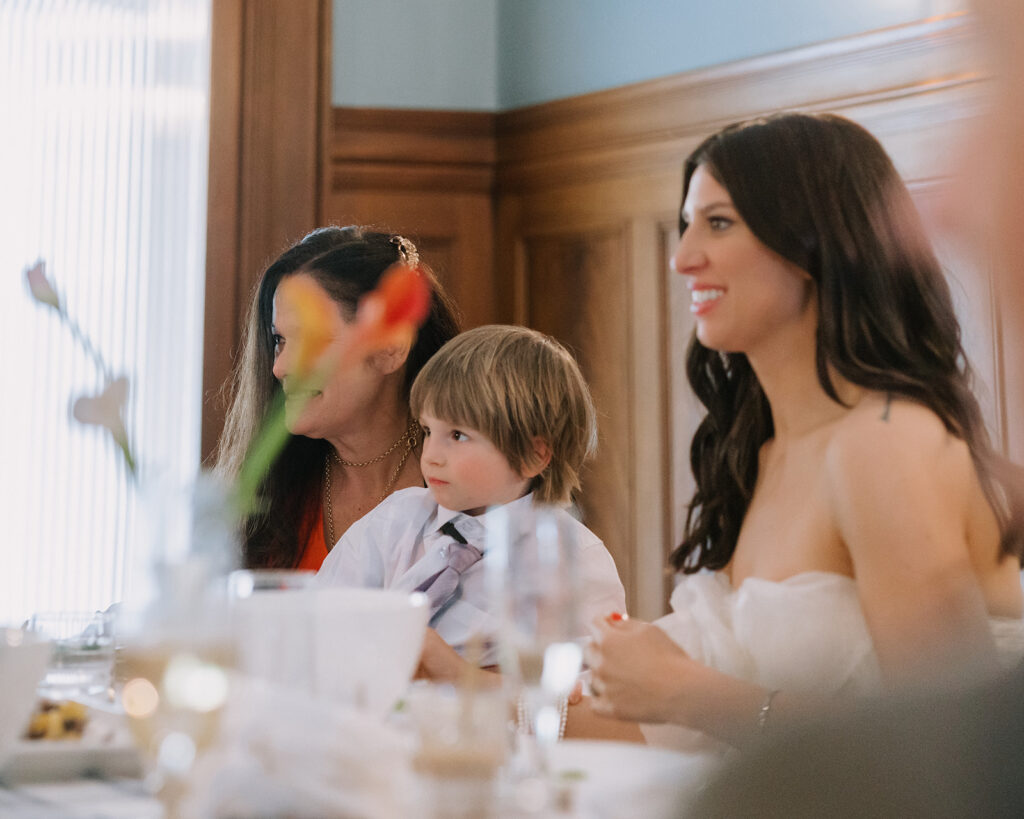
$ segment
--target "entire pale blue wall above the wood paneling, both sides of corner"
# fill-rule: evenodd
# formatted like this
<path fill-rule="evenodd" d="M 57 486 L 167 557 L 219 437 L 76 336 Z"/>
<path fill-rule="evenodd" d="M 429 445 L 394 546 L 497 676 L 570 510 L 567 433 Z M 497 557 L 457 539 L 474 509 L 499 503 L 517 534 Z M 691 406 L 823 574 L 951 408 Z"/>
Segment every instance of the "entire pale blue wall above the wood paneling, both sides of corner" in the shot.
<path fill-rule="evenodd" d="M 955 11 L 966 0 L 334 0 L 336 105 L 504 111 Z"/>

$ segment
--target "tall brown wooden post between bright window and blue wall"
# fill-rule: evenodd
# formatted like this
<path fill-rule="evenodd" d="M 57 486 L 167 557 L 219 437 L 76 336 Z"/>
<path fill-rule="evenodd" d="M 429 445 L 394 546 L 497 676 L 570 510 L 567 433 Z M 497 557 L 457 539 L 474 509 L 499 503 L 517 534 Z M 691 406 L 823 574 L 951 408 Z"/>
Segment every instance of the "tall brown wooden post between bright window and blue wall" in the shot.
<path fill-rule="evenodd" d="M 319 222 L 330 0 L 214 0 L 203 457 L 253 284 Z"/>

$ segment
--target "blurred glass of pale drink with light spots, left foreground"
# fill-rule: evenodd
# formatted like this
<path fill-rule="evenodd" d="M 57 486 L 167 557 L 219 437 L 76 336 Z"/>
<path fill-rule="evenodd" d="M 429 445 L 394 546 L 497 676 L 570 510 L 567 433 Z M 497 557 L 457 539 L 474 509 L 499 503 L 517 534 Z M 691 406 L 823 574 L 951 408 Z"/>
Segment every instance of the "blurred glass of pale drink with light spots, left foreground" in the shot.
<path fill-rule="evenodd" d="M 227 605 L 232 519 L 220 487 L 160 482 L 142 494 L 131 594 L 119 614 L 119 702 L 167 819 L 180 815 L 197 759 L 216 740 L 236 651 Z"/>

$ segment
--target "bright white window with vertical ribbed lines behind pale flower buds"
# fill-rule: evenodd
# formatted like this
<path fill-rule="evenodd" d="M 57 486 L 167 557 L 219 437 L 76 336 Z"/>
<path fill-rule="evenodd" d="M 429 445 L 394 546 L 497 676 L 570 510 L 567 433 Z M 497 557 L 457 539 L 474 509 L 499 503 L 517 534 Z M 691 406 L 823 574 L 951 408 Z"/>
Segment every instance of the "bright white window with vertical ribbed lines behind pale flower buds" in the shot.
<path fill-rule="evenodd" d="M 23 270 L 44 259 L 116 374 L 144 473 L 199 466 L 211 0 L 0 0 L 0 622 L 121 599 L 144 548 L 102 386 Z"/>

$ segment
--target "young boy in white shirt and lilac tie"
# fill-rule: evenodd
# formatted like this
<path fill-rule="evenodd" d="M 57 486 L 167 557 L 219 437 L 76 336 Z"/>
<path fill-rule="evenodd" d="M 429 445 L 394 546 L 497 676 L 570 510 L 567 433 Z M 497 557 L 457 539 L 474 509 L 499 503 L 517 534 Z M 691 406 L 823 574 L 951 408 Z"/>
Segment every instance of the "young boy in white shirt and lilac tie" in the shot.
<path fill-rule="evenodd" d="M 462 653 L 471 637 L 496 662 L 495 601 L 484 574 L 488 509 L 505 507 L 512 531 L 530 505 L 564 506 L 597 440 L 594 404 L 575 360 L 557 341 L 521 327 L 470 330 L 445 344 L 413 384 L 410 406 L 423 427 L 426 488 L 389 495 L 331 550 L 327 586 L 423 591 L 430 626 Z M 564 509 L 575 535 L 581 622 L 626 609 L 601 541 Z M 582 636 L 582 635 L 581 635 Z"/>

